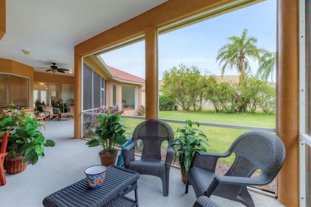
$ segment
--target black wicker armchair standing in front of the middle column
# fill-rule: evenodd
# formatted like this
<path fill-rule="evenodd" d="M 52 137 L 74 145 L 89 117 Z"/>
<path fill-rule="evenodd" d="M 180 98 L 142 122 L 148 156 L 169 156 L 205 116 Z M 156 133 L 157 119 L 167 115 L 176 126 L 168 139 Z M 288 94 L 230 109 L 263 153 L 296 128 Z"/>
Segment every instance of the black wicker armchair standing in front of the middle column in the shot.
<path fill-rule="evenodd" d="M 140 160 L 135 160 L 134 150 L 137 140 L 143 142 Z M 174 139 L 172 127 L 161 120 L 143 121 L 135 128 L 132 143 L 123 149 L 124 168 L 160 177 L 163 194 L 169 195 L 170 168 L 174 157 L 174 149 L 170 145 Z M 168 141 L 165 162 L 161 161 L 161 143 Z"/>

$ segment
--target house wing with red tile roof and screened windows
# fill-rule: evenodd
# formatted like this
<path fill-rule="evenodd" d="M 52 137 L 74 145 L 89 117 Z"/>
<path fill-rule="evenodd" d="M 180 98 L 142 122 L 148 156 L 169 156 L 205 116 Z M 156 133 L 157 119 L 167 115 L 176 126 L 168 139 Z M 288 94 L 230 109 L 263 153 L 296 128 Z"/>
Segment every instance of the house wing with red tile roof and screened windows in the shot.
<path fill-rule="evenodd" d="M 83 77 L 86 77 L 83 78 L 84 111 L 118 106 L 124 110 L 123 115 L 138 115 L 141 88 L 145 85 L 143 78 L 107 66 L 99 55 L 84 58 Z"/>

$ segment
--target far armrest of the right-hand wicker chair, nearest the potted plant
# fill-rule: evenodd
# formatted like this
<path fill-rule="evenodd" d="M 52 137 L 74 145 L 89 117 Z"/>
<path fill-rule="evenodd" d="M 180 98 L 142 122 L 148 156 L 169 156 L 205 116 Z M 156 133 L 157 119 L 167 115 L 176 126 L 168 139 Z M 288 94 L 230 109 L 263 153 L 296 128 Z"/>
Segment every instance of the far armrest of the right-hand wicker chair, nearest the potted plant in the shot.
<path fill-rule="evenodd" d="M 196 152 L 193 155 L 191 167 L 197 167 L 215 173 L 217 160 L 220 157 L 227 157 L 230 155 L 231 152 L 228 151 L 225 153 Z"/>

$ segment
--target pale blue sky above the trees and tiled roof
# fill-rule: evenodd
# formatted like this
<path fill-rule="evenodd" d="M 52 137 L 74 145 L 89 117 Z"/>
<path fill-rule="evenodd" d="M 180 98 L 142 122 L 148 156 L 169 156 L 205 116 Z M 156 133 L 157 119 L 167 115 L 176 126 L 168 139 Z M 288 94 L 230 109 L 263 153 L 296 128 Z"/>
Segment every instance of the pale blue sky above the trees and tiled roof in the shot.
<path fill-rule="evenodd" d="M 229 36 L 248 35 L 258 39 L 257 46 L 276 52 L 276 0 L 267 0 L 225 15 L 169 32 L 158 37 L 159 79 L 163 71 L 179 64 L 197 66 L 221 75 L 216 63 L 217 51 L 227 43 Z M 117 69 L 145 78 L 144 41 L 101 55 L 104 62 Z M 257 62 L 251 62 L 253 73 Z M 227 70 L 225 75 L 238 75 Z M 276 80 L 275 74 L 273 80 Z"/>

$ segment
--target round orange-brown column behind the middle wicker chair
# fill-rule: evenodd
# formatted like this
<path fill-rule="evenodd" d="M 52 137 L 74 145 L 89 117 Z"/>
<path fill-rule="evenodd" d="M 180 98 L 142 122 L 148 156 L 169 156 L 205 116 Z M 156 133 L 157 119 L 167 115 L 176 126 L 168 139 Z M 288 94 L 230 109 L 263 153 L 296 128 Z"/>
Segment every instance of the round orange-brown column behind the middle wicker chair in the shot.
<path fill-rule="evenodd" d="M 158 119 L 157 30 L 145 29 L 146 120 Z"/>

